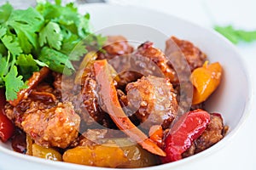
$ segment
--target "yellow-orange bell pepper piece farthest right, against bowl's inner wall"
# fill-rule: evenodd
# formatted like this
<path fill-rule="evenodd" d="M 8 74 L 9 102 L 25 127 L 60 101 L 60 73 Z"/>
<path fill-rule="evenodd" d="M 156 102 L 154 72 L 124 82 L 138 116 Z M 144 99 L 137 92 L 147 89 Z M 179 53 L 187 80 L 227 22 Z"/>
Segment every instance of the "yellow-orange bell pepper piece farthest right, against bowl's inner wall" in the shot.
<path fill-rule="evenodd" d="M 205 64 L 192 72 L 190 81 L 194 85 L 194 95 L 192 104 L 200 104 L 205 101 L 216 88 L 222 77 L 222 67 L 216 62 L 208 65 Z"/>

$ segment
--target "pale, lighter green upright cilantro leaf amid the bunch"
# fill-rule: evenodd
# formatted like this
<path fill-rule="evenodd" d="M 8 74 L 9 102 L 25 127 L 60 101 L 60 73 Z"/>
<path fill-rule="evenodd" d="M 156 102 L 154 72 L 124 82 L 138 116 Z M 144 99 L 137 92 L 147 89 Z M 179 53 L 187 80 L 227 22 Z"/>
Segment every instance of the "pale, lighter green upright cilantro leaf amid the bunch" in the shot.
<path fill-rule="evenodd" d="M 39 33 L 39 44 L 41 47 L 48 43 L 50 48 L 60 50 L 62 39 L 60 26 L 51 21 Z"/>

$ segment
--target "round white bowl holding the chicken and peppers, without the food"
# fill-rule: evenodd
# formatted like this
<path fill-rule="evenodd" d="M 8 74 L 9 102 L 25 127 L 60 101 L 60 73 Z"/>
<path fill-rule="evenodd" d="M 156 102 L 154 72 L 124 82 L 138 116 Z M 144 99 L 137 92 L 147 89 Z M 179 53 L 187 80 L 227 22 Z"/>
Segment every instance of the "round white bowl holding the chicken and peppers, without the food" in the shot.
<path fill-rule="evenodd" d="M 94 30 L 102 34 L 123 35 L 135 43 L 150 40 L 159 48 L 164 48 L 166 37 L 173 35 L 195 43 L 211 62 L 218 61 L 224 68 L 223 81 L 218 91 L 208 100 L 207 111 L 221 113 L 224 123 L 230 127 L 229 133 L 211 148 L 181 161 L 160 165 L 157 169 L 201 169 L 204 156 L 209 156 L 220 150 L 224 144 L 229 144 L 248 115 L 252 97 L 251 82 L 241 55 L 229 41 L 214 31 L 144 8 L 90 4 L 80 6 L 79 9 L 80 12 L 90 13 Z M 1 142 L 0 160 L 0 167 L 3 169 L 107 169 L 21 155 L 10 150 L 9 144 Z"/>

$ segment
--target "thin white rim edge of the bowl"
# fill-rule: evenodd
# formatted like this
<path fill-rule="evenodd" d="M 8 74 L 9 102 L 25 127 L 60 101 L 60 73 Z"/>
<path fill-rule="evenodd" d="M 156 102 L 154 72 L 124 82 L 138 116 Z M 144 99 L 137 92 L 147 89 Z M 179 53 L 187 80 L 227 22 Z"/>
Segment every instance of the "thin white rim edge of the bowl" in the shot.
<path fill-rule="evenodd" d="M 236 127 L 234 127 L 232 129 L 232 131 L 230 133 L 227 134 L 227 136 L 222 139 L 220 142 L 218 142 L 218 144 L 214 144 L 212 145 L 210 148 L 208 148 L 207 150 L 204 150 L 198 154 L 195 154 L 193 156 L 189 156 L 186 158 L 183 158 L 182 160 L 179 161 L 174 161 L 174 162 L 170 162 L 170 163 L 166 163 L 166 164 L 160 164 L 157 166 L 152 166 L 152 167 L 139 167 L 137 169 L 147 169 L 147 170 L 153 170 L 155 168 L 157 169 L 166 169 L 168 168 L 174 168 L 174 167 L 178 167 L 184 163 L 189 163 L 191 161 L 196 161 L 201 157 L 204 156 L 209 156 L 212 155 L 214 153 L 216 153 L 218 150 L 220 150 L 221 148 L 224 147 L 225 144 L 229 143 L 231 139 L 233 139 L 236 134 L 239 132 L 239 130 L 245 125 L 245 122 L 247 122 L 247 117 L 252 113 L 252 107 L 253 107 L 253 95 L 255 93 L 255 89 L 253 88 L 253 81 L 252 81 L 252 73 L 250 73 L 246 67 L 245 61 L 244 59 L 242 59 L 242 55 L 241 53 L 238 51 L 238 48 L 236 48 L 236 46 L 231 43 L 227 38 L 223 37 L 221 34 L 219 34 L 217 31 L 214 31 L 208 27 L 204 27 L 204 26 L 200 26 L 195 24 L 192 21 L 189 20 L 185 20 L 183 18 L 180 18 L 178 16 L 172 15 L 172 14 L 166 14 L 164 12 L 161 12 L 159 10 L 155 10 L 152 8 L 143 8 L 143 7 L 137 7 L 131 4 L 125 4 L 125 5 L 120 5 L 120 4 L 113 4 L 113 3 L 86 3 L 86 4 L 79 4 L 78 8 L 83 8 L 84 6 L 99 6 L 99 7 L 108 7 L 108 6 L 112 6 L 112 7 L 117 7 L 117 8 L 125 8 L 127 6 L 132 7 L 132 8 L 136 8 L 137 10 L 144 10 L 144 11 L 148 11 L 150 13 L 157 13 L 157 14 L 161 14 L 161 15 L 166 15 L 170 18 L 172 18 L 173 20 L 180 20 L 183 23 L 186 23 L 190 26 L 193 27 L 198 27 L 204 31 L 207 31 L 207 34 L 212 34 L 212 36 L 218 37 L 219 41 L 223 41 L 227 48 L 230 48 L 232 51 L 234 51 L 237 55 L 236 55 L 236 59 L 239 60 L 239 62 L 241 63 L 241 70 L 243 71 L 244 75 L 246 76 L 246 80 L 247 80 L 247 91 L 248 91 L 248 96 L 247 96 L 247 101 L 244 105 L 244 109 L 243 109 L 243 114 L 239 120 L 239 122 L 237 123 Z M 238 56 L 238 57 L 237 57 Z M 228 137 L 228 138 L 227 138 Z M 1 142 L 1 141 L 0 141 Z M 20 154 L 17 153 L 13 150 L 9 150 L 7 148 L 4 148 L 3 146 L 0 145 L 0 151 L 3 154 L 6 154 L 8 156 L 15 156 L 16 158 L 19 158 L 23 161 L 33 161 L 33 163 L 38 163 L 38 164 L 48 164 L 52 167 L 58 168 L 58 167 L 64 167 L 64 169 L 73 169 L 73 170 L 79 170 L 79 169 L 95 169 L 95 170 L 110 170 L 113 168 L 110 167 L 92 167 L 92 166 L 86 166 L 86 165 L 79 165 L 79 164 L 74 164 L 74 163 L 69 163 L 69 162 L 64 162 L 64 161 L 50 161 L 50 160 L 46 160 L 46 159 L 42 159 L 42 158 L 38 158 L 35 156 L 28 156 L 28 155 L 24 155 L 24 154 Z M 123 169 L 123 168 L 114 168 L 114 169 Z M 134 170 L 135 168 L 125 168 L 127 170 L 131 169 Z"/>

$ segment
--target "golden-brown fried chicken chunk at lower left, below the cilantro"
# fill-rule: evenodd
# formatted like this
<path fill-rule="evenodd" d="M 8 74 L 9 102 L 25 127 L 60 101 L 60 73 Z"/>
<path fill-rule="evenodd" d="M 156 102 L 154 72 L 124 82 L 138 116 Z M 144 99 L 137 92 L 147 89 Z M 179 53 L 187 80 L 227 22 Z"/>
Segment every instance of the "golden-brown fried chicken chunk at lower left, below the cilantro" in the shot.
<path fill-rule="evenodd" d="M 39 110 L 31 108 L 23 116 L 21 127 L 45 147 L 66 148 L 78 137 L 80 117 L 71 103 L 59 103 L 55 107 Z"/>

